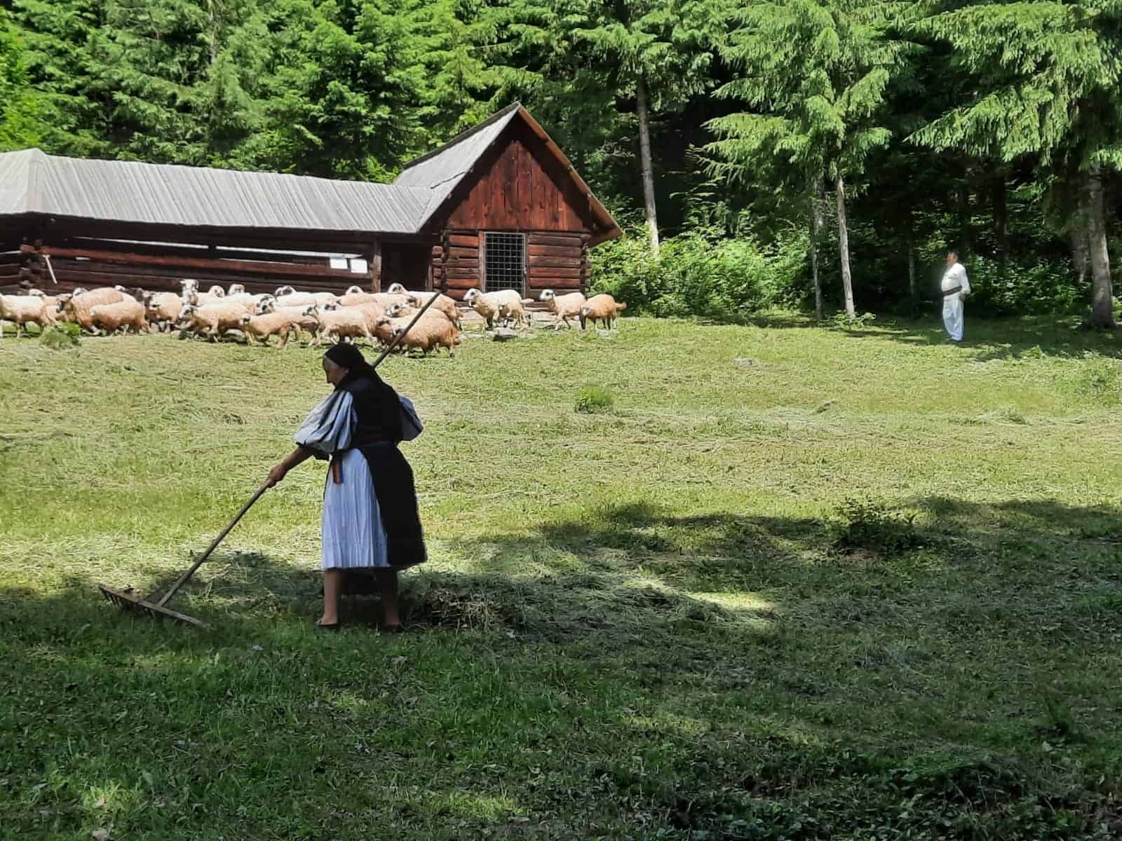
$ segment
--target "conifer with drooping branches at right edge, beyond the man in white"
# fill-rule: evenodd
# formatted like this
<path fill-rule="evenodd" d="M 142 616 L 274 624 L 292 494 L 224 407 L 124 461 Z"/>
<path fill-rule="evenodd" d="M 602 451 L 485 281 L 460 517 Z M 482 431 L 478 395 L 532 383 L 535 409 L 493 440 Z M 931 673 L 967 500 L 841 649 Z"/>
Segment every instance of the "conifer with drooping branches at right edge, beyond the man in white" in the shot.
<path fill-rule="evenodd" d="M 1043 174 L 1077 181 L 1066 192 L 1079 197 L 1091 323 L 1114 326 L 1103 176 L 1122 168 L 1122 4 L 978 3 L 934 15 L 916 31 L 954 48 L 975 93 L 912 139 L 1002 163 L 1034 159 Z"/>

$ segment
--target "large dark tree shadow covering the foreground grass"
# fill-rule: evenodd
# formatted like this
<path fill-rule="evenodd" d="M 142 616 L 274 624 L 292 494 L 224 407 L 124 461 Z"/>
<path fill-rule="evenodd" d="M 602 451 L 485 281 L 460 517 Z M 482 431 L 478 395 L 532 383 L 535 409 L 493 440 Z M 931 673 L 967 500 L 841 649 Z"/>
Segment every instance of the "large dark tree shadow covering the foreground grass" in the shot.
<path fill-rule="evenodd" d="M 1118 655 L 1086 627 L 1109 619 L 1060 620 L 1073 576 L 1122 603 L 1091 589 L 1120 511 L 902 505 L 928 545 L 859 562 L 817 520 L 646 503 L 442 542 L 453 564 L 403 576 L 401 637 L 315 636 L 318 572 L 259 553 L 176 600 L 204 632 L 81 577 L 0 588 L 0 803 L 24 837 L 1109 838 L 1116 726 L 1073 718 L 1080 740 L 1026 695 L 1074 668 L 1072 703 L 1109 706 Z"/>

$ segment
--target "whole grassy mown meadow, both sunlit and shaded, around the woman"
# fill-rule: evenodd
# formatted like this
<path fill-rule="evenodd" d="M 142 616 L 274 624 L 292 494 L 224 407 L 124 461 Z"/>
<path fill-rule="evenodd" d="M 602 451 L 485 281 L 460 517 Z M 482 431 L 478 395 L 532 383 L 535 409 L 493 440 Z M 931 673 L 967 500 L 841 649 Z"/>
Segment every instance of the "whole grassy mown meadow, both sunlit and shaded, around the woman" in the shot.
<path fill-rule="evenodd" d="M 968 329 L 389 360 L 432 557 L 397 637 L 312 630 L 320 464 L 176 598 L 213 630 L 94 589 L 206 545 L 315 351 L 4 338 L 0 837 L 1116 838 L 1119 339 Z"/>

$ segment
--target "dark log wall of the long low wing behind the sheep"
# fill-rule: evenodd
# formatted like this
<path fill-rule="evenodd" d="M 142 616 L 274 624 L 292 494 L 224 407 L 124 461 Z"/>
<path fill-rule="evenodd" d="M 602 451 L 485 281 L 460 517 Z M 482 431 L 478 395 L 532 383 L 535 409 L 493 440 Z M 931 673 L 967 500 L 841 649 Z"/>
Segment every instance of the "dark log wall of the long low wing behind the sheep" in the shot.
<path fill-rule="evenodd" d="M 46 258 L 49 258 L 49 266 Z M 348 286 L 369 289 L 380 268 L 367 255 L 368 270 L 353 272 L 332 269 L 329 256 L 263 253 L 217 249 L 184 248 L 159 243 L 114 242 L 111 240 L 67 241 L 62 246 L 25 244 L 17 252 L 27 267 L 30 285 L 47 293 L 83 287 L 127 286 L 153 292 L 178 292 L 184 278 L 199 280 L 202 288 L 212 284 L 242 284 L 247 292 L 274 292 L 278 286 L 294 286 L 306 292 L 341 293 Z M 0 256 L 0 284 L 7 280 L 7 264 Z M 54 269 L 53 281 L 50 269 Z"/>

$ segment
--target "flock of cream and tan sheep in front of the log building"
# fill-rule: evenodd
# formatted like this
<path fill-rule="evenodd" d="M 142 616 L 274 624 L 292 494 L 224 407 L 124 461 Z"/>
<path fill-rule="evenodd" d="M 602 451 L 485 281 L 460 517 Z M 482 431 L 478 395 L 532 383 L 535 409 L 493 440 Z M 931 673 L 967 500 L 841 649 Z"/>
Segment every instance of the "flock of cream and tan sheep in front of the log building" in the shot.
<path fill-rule="evenodd" d="M 249 344 L 267 344 L 270 336 L 277 336 L 280 346 L 305 331 L 312 335 L 313 345 L 344 340 L 389 344 L 399 336 L 403 350 L 420 350 L 424 354 L 444 348 L 451 355 L 460 343 L 462 324 L 456 302 L 441 293 L 408 292 L 401 284 L 394 284 L 385 293 L 362 292 L 352 286 L 342 295 L 297 292 L 292 286 L 282 286 L 273 294 L 251 295 L 240 284 L 229 289 L 211 286 L 200 292 L 196 280 L 183 280 L 178 295 L 128 290 L 121 286 L 75 289 L 54 296 L 38 289 L 27 295 L 0 295 L 0 335 L 6 321 L 16 324 L 17 335 L 26 324 L 37 324 L 42 330 L 65 321 L 95 335 L 178 330 L 181 336 L 217 341 L 237 331 Z M 436 301 L 406 332 L 417 309 L 433 296 Z M 579 292 L 555 295 L 550 289 L 541 294 L 541 301 L 553 313 L 555 329 L 561 324 L 572 326 L 572 318 L 580 322 L 582 330 L 589 322 L 611 327 L 619 311 L 627 306 L 610 295 L 586 299 Z M 528 303 L 532 302 L 524 301 L 513 289 L 493 293 L 471 289 L 465 297 L 465 304 L 482 317 L 488 329 L 526 324 Z"/>

